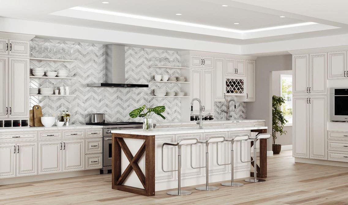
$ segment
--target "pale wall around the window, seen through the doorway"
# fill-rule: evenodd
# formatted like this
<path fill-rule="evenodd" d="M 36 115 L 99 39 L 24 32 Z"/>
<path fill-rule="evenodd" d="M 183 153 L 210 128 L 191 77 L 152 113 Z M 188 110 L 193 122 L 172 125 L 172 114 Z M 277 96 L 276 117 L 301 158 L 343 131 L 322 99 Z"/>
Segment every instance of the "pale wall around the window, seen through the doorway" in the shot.
<path fill-rule="evenodd" d="M 292 75 L 292 70 L 282 70 L 272 72 L 272 95 L 280 96 L 280 75 Z M 285 126 L 285 135 L 277 135 L 276 144 L 292 145 L 292 126 Z"/>

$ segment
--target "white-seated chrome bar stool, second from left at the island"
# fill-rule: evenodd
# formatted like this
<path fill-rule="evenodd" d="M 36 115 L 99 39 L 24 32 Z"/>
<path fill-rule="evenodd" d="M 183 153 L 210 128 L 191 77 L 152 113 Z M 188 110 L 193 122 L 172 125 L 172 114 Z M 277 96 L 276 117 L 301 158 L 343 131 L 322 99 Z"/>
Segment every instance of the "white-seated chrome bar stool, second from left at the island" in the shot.
<path fill-rule="evenodd" d="M 209 186 L 209 150 L 208 150 L 208 147 L 209 147 L 210 143 L 219 143 L 219 142 L 223 142 L 224 140 L 225 140 L 224 137 L 211 137 L 211 138 L 204 140 L 204 141 L 198 141 L 198 143 L 205 144 L 205 147 L 206 147 L 205 166 L 204 167 L 193 167 L 192 166 L 192 145 L 191 145 L 191 160 L 190 160 L 191 168 L 193 168 L 193 169 L 205 168 L 205 173 L 206 173 L 205 186 L 196 187 L 197 190 L 214 191 L 214 190 L 219 189 L 218 187 Z"/>

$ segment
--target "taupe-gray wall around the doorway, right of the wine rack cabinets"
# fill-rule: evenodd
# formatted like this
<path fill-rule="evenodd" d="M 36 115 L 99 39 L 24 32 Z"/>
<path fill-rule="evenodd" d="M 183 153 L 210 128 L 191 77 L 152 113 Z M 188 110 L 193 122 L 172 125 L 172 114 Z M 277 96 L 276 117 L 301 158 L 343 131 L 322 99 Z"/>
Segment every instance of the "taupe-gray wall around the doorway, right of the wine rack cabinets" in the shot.
<path fill-rule="evenodd" d="M 263 56 L 256 59 L 256 101 L 246 105 L 247 119 L 264 119 L 271 132 L 271 71 L 292 70 L 292 55 Z M 272 150 L 272 140 L 268 140 L 267 150 Z"/>

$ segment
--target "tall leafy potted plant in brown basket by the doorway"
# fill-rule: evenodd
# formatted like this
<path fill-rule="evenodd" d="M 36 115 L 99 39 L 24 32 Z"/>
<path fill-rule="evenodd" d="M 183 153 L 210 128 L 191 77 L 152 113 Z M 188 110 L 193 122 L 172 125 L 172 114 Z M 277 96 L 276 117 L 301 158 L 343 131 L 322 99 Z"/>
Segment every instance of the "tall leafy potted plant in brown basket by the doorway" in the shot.
<path fill-rule="evenodd" d="M 282 149 L 282 145 L 276 144 L 277 133 L 280 135 L 286 134 L 283 130 L 284 125 L 288 122 L 285 119 L 284 113 L 281 109 L 281 105 L 285 103 L 285 98 L 280 96 L 272 96 L 272 151 L 274 154 L 279 154 Z"/>

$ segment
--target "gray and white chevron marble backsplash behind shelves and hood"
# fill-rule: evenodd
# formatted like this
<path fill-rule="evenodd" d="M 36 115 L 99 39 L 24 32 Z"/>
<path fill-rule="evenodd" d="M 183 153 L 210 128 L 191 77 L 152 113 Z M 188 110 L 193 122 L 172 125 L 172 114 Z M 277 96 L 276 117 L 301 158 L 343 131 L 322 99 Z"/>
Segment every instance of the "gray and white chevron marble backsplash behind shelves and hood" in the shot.
<path fill-rule="evenodd" d="M 32 52 L 31 57 L 69 59 L 76 62 L 52 62 L 31 60 L 30 67 L 46 68 L 48 71 L 58 69 L 68 70 L 70 77 L 76 79 L 40 79 L 31 78 L 31 88 L 57 88 L 70 86 L 70 94 L 74 97 L 50 97 L 31 96 L 30 107 L 40 105 L 44 116 L 59 116 L 63 110 L 68 110 L 72 117 L 71 123 L 85 124 L 90 121 L 90 114 L 105 113 L 105 120 L 116 121 L 141 121 L 140 118 L 132 119 L 128 113 L 142 105 L 166 106 L 166 120 L 155 116 L 154 122 L 178 122 L 181 120 L 180 98 L 154 98 L 153 89 L 164 87 L 171 91 L 180 91 L 180 84 L 176 83 L 153 83 L 154 74 L 167 74 L 180 76 L 180 69 L 150 68 L 154 58 L 168 58 L 169 66 L 180 66 L 180 54 L 177 51 L 155 50 L 147 48 L 125 47 L 125 77 L 126 83 L 149 84 L 149 88 L 89 88 L 87 83 L 105 82 L 105 45 L 80 43 L 72 41 L 59 41 L 34 38 L 30 42 L 31 50 L 41 47 L 59 51 L 70 50 L 71 54 L 59 52 Z M 227 101 L 228 99 L 226 99 Z M 237 103 L 238 106 L 238 103 Z M 235 119 L 244 119 L 246 116 L 245 103 L 239 103 Z M 215 119 L 226 119 L 227 102 L 214 102 Z"/>

